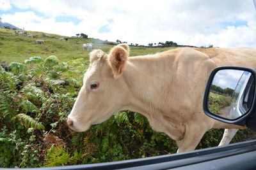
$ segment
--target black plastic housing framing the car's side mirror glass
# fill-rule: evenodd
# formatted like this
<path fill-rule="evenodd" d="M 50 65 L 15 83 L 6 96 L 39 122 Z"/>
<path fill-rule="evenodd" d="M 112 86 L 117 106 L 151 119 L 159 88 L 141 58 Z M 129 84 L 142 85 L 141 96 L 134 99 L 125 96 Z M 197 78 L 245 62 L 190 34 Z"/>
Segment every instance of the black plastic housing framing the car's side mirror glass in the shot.
<path fill-rule="evenodd" d="M 250 96 L 252 96 L 252 102 L 250 104 L 250 108 L 246 110 L 243 114 L 239 115 L 239 117 L 221 117 L 218 115 L 218 113 L 212 113 L 213 111 L 209 109 L 209 97 L 212 87 L 212 82 L 214 81 L 214 77 L 217 73 L 220 73 L 220 71 L 224 70 L 234 70 L 234 71 L 248 71 L 250 72 L 250 76 L 253 76 L 253 79 L 251 80 L 251 83 L 254 83 L 254 86 L 252 87 L 253 90 L 250 90 L 248 92 Z M 228 78 L 227 75 L 224 75 L 223 78 Z M 239 80 L 240 81 L 240 80 Z M 248 81 L 246 81 L 248 83 Z M 238 83 L 237 83 L 238 84 Z M 212 73 L 209 76 L 209 80 L 207 82 L 207 86 L 204 93 L 204 101 L 203 101 L 203 108 L 206 115 L 208 115 L 211 118 L 214 118 L 216 120 L 219 120 L 221 122 L 225 122 L 227 124 L 236 124 L 241 126 L 246 126 L 249 129 L 252 129 L 253 131 L 256 131 L 256 70 L 252 69 L 250 67 L 236 67 L 236 66 L 225 66 L 225 67 L 217 67 L 212 71 Z M 237 85 L 236 85 L 237 86 Z M 253 93 L 253 94 L 252 94 Z M 231 107 L 231 106 L 230 106 Z M 231 111 L 230 111 L 231 112 Z"/>

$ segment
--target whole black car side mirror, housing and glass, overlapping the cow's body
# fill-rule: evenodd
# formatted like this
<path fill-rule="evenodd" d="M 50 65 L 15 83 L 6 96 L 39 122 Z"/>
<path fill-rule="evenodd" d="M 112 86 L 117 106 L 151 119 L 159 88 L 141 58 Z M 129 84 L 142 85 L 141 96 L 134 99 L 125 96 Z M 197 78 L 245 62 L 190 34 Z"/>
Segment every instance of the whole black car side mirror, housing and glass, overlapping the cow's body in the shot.
<path fill-rule="evenodd" d="M 209 76 L 204 112 L 221 122 L 256 131 L 256 70 L 249 67 L 217 67 Z"/>

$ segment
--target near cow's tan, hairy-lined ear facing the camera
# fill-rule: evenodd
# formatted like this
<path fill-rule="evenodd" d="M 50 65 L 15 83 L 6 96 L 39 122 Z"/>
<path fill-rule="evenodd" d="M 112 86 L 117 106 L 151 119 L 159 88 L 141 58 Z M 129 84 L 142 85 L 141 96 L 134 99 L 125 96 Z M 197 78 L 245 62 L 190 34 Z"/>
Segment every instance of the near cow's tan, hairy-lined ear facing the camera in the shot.
<path fill-rule="evenodd" d="M 129 56 L 129 46 L 122 44 L 113 47 L 108 55 L 108 62 L 113 71 L 114 77 L 122 74 Z"/>

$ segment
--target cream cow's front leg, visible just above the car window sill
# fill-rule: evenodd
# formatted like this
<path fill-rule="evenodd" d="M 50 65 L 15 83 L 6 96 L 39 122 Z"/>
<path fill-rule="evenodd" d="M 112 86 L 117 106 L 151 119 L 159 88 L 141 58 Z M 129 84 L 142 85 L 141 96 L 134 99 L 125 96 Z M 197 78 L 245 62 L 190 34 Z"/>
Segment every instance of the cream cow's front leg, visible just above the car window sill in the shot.
<path fill-rule="evenodd" d="M 184 138 L 180 141 L 176 141 L 177 146 L 179 147 L 177 153 L 195 150 L 207 130 L 208 129 L 205 127 L 195 125 L 193 127 L 186 128 Z"/>

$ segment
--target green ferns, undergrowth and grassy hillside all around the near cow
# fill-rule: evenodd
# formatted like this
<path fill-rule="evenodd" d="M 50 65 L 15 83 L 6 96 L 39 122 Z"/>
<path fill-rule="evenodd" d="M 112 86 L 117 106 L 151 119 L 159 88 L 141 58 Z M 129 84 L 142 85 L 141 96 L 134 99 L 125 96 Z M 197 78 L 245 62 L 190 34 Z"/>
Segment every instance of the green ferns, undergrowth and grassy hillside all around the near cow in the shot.
<path fill-rule="evenodd" d="M 147 118 L 131 111 L 120 111 L 86 132 L 70 131 L 67 115 L 89 65 L 81 44 L 92 39 L 59 41 L 50 34 L 56 38 L 36 46 L 35 39 L 10 33 L 0 31 L 0 59 L 8 62 L 8 71 L 0 67 L 0 167 L 89 164 L 176 152 L 175 141 L 152 131 Z M 44 39 L 42 32 L 31 34 Z M 95 46 L 105 52 L 111 48 Z M 131 53 L 167 49 L 132 47 Z M 248 133 L 239 132 L 233 142 Z M 207 132 L 197 149 L 217 146 L 222 134 L 220 129 Z"/>

